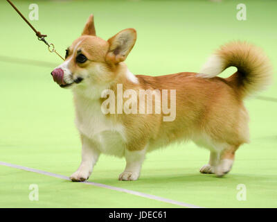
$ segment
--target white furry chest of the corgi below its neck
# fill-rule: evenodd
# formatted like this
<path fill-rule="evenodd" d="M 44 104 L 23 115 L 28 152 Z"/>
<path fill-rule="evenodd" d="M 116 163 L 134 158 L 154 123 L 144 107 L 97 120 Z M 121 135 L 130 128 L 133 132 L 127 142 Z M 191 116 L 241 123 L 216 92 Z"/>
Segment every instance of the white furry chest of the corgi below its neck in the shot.
<path fill-rule="evenodd" d="M 75 101 L 75 124 L 80 134 L 97 144 L 102 153 L 122 157 L 125 151 L 124 128 L 105 117 L 98 101 Z"/>

